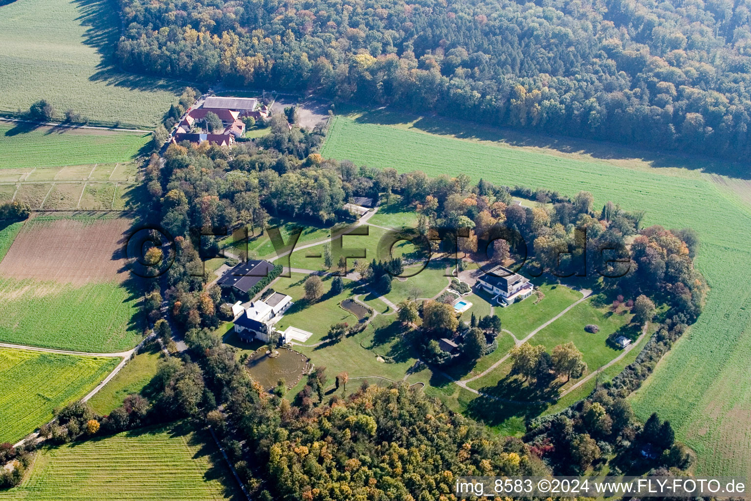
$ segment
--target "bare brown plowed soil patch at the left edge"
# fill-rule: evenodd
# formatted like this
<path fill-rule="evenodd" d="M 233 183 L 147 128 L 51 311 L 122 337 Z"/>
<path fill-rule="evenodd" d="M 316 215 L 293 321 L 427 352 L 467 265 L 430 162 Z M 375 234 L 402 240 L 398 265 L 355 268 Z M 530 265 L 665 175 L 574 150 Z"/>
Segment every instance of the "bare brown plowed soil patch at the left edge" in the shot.
<path fill-rule="evenodd" d="M 56 280 L 83 285 L 125 279 L 122 245 L 131 219 L 47 219 L 26 222 L 8 254 L 0 275 L 17 279 Z"/>

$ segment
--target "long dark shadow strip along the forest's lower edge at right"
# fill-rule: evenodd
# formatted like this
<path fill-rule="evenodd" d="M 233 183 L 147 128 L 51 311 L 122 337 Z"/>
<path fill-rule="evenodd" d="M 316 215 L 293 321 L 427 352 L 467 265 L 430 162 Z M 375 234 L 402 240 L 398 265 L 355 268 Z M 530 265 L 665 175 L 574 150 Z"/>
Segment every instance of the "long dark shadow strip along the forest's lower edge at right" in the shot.
<path fill-rule="evenodd" d="M 641 159 L 647 161 L 653 168 L 686 168 L 692 171 L 704 171 L 709 174 L 751 180 L 751 171 L 741 162 L 723 160 L 722 158 L 698 153 L 683 153 L 680 150 L 660 152 L 644 149 L 638 145 L 566 137 L 542 132 L 530 133 L 462 119 L 448 119 L 436 115 L 419 116 L 398 113 L 388 110 L 388 108 L 366 110 L 357 117 L 356 121 L 379 125 L 414 122 L 412 126 L 418 130 L 431 134 L 454 136 L 459 139 L 486 140 L 508 144 L 509 146 L 553 149 L 557 152 L 588 155 L 601 160 Z"/>

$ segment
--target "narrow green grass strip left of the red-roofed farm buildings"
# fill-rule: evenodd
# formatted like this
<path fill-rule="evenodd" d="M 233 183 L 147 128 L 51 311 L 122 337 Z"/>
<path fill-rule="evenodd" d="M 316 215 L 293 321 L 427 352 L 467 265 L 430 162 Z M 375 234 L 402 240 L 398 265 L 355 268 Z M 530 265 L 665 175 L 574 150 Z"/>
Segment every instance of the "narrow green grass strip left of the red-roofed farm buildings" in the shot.
<path fill-rule="evenodd" d="M 84 168 L 87 176 L 95 164 L 130 161 L 138 155 L 139 150 L 149 140 L 151 140 L 151 134 L 140 132 L 86 131 L 85 129 L 55 129 L 53 131 L 49 127 L 19 131 L 16 125 L 0 123 L 0 169 L 34 169 L 86 164 L 90 165 L 89 168 Z M 65 179 L 65 173 L 62 174 L 61 179 Z M 29 176 L 29 180 L 35 180 L 35 178 Z"/>

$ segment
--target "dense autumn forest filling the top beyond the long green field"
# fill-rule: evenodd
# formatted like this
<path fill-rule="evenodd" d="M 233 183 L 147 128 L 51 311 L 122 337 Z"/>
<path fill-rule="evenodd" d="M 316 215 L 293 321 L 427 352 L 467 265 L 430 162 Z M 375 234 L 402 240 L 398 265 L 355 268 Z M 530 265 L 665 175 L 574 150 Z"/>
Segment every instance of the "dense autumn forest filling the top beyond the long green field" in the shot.
<path fill-rule="evenodd" d="M 137 72 L 744 158 L 748 0 L 121 0 Z"/>

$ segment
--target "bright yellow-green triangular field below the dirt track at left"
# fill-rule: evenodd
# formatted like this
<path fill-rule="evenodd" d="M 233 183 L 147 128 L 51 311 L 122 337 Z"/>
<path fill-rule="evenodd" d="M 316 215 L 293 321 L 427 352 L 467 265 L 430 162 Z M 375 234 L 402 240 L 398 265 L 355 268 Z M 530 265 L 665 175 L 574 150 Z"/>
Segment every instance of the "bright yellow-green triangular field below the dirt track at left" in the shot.
<path fill-rule="evenodd" d="M 99 384 L 119 358 L 0 349 L 0 442 L 15 443 L 53 418 L 53 409 Z"/>

